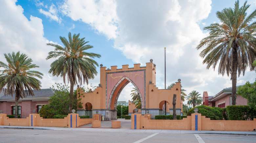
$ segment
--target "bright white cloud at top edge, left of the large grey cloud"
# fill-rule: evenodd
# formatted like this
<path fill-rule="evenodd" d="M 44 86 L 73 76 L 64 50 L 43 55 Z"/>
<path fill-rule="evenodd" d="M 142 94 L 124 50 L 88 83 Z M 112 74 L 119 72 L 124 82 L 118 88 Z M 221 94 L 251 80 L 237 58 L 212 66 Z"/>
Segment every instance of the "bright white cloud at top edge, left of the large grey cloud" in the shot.
<path fill-rule="evenodd" d="M 74 21 L 82 21 L 92 26 L 108 39 L 117 37 L 117 13 L 114 0 L 67 0 L 61 6 L 62 13 Z"/>

